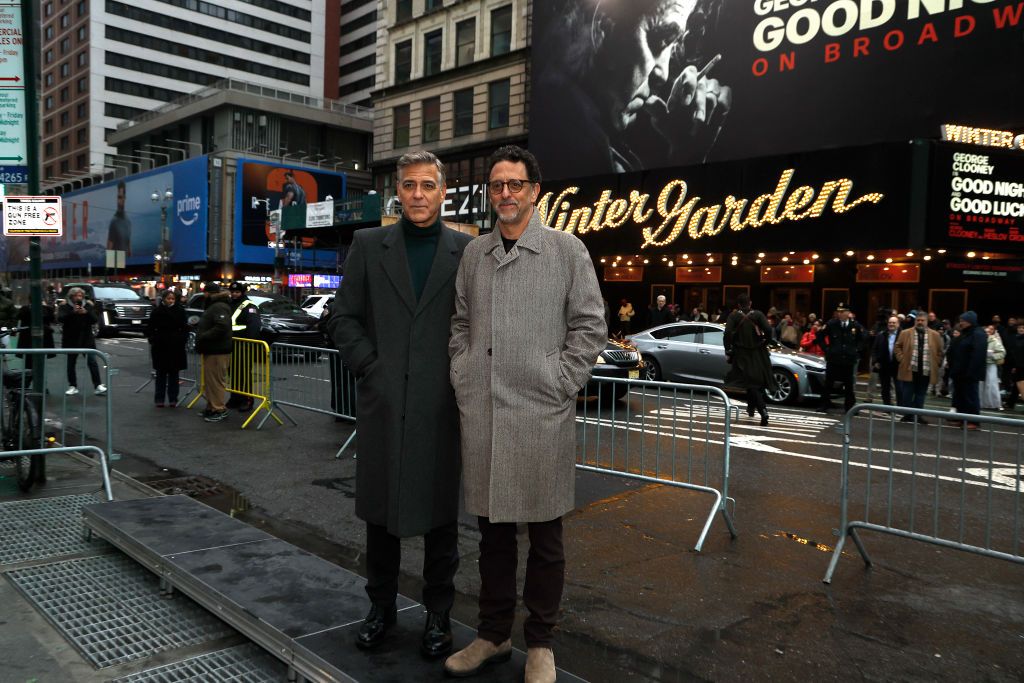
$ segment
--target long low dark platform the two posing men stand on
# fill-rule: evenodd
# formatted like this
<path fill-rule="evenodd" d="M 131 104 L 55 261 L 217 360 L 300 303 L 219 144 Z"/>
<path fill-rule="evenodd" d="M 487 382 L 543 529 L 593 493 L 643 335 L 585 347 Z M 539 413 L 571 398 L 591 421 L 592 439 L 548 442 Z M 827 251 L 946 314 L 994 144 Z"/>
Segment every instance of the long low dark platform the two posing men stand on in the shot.
<path fill-rule="evenodd" d="M 365 580 L 186 496 L 88 505 L 95 533 L 187 595 L 290 668 L 290 679 L 402 682 L 451 680 L 442 660 L 419 654 L 422 605 L 398 597 L 398 623 L 372 651 L 354 646 L 370 608 Z M 455 647 L 474 630 L 452 623 Z M 522 680 L 526 655 L 481 673 L 494 683 Z M 558 671 L 558 681 L 579 682 Z"/>

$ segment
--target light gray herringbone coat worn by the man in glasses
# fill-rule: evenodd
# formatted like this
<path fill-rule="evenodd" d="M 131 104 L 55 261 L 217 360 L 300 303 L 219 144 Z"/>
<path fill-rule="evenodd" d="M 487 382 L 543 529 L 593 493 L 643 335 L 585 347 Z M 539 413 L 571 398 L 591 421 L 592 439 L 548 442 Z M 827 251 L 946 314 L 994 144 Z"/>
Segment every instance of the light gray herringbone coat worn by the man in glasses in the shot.
<path fill-rule="evenodd" d="M 468 513 L 534 522 L 572 509 L 575 396 L 607 336 L 579 238 L 535 211 L 507 254 L 498 230 L 469 244 L 449 343 Z"/>

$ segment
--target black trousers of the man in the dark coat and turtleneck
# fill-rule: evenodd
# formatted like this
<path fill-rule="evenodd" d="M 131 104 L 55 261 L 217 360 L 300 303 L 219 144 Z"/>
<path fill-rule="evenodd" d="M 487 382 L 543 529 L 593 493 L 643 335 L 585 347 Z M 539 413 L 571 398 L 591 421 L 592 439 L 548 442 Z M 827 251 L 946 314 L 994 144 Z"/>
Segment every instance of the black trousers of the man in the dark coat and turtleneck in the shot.
<path fill-rule="evenodd" d="M 455 601 L 455 572 L 459 568 L 458 522 L 438 526 L 423 537 L 423 606 L 444 612 Z M 375 604 L 388 607 L 398 596 L 401 539 L 386 526 L 367 522 L 367 595 Z"/>

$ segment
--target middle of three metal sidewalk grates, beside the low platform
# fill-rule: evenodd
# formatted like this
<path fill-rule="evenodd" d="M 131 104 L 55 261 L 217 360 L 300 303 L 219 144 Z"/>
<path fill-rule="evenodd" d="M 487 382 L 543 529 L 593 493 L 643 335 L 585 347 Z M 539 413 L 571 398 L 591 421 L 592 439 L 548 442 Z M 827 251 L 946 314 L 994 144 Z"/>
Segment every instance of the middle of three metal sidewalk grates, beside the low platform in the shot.
<path fill-rule="evenodd" d="M 157 577 L 121 554 L 7 575 L 99 669 L 236 633 L 183 595 L 161 598 Z"/>

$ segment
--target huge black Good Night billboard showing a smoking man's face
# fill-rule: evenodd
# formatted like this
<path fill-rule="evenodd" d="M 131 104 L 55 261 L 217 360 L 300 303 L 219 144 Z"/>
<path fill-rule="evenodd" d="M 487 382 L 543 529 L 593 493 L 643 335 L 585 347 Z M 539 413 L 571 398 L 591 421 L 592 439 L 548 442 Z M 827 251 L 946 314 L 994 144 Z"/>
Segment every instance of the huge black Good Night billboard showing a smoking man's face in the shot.
<path fill-rule="evenodd" d="M 546 177 L 1024 127 L 1021 0 L 535 3 Z"/>

